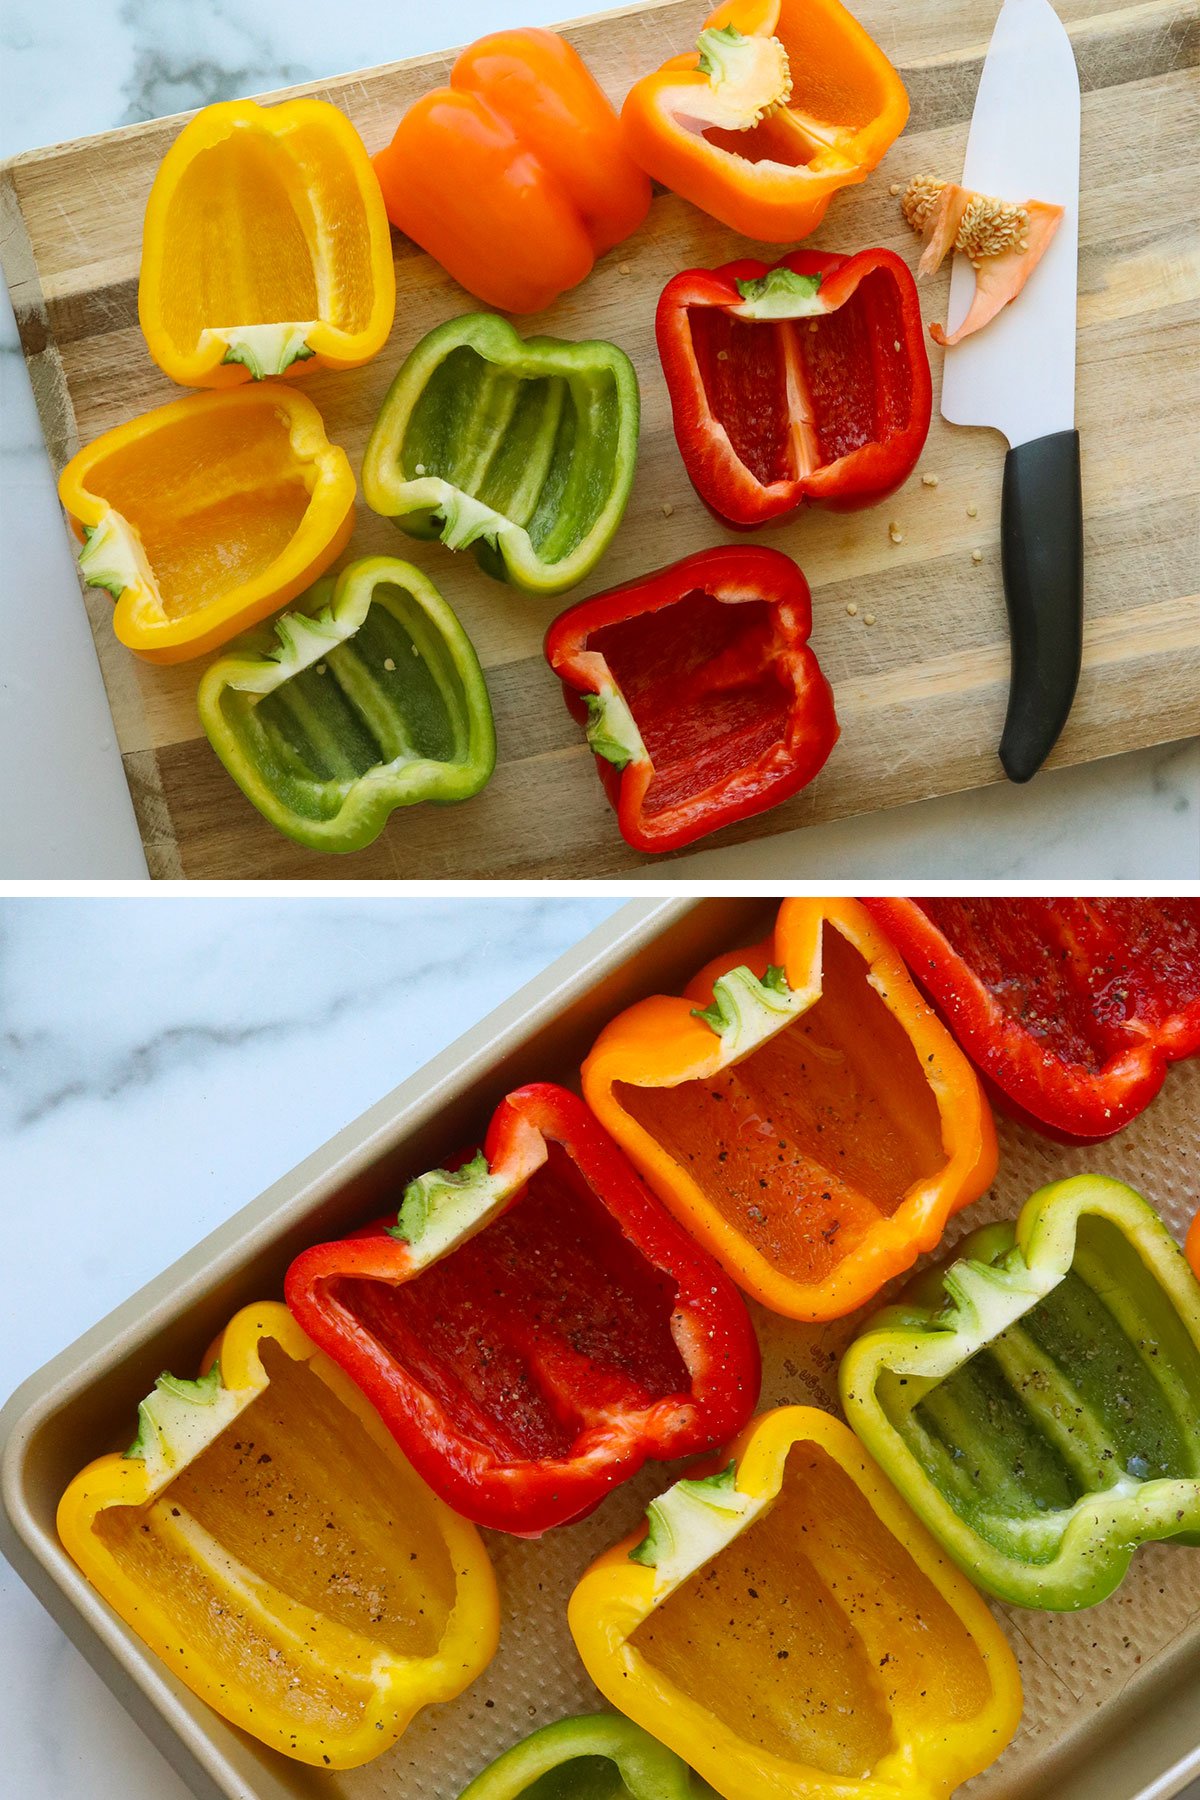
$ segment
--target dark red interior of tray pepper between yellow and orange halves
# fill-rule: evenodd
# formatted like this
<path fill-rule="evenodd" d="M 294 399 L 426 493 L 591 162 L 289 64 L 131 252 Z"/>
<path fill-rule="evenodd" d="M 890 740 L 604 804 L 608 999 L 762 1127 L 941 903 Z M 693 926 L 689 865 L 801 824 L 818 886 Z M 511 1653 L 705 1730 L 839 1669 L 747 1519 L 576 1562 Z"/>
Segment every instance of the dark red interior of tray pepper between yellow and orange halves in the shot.
<path fill-rule="evenodd" d="M 691 1391 L 675 1283 L 556 1143 L 507 1213 L 416 1280 L 338 1276 L 329 1294 L 497 1462 L 579 1454 L 613 1415 Z"/>

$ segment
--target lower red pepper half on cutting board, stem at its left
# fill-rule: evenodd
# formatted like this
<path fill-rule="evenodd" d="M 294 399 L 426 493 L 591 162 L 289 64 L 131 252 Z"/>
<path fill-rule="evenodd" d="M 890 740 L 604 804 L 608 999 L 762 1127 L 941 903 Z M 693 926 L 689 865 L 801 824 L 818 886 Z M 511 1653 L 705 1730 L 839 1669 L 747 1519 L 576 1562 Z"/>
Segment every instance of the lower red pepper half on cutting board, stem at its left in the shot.
<path fill-rule="evenodd" d="M 799 794 L 838 738 L 808 581 L 721 545 L 596 594 L 545 637 L 621 835 L 680 850 Z"/>

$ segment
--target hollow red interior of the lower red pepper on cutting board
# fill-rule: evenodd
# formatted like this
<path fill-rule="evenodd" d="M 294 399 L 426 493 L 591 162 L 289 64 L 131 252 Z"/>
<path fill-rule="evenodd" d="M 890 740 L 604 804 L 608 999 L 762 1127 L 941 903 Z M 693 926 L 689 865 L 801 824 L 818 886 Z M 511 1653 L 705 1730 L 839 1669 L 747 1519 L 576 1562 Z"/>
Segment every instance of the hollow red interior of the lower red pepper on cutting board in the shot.
<path fill-rule="evenodd" d="M 646 817 L 687 805 L 783 745 L 793 704 L 775 608 L 696 589 L 588 637 L 655 765 Z"/>

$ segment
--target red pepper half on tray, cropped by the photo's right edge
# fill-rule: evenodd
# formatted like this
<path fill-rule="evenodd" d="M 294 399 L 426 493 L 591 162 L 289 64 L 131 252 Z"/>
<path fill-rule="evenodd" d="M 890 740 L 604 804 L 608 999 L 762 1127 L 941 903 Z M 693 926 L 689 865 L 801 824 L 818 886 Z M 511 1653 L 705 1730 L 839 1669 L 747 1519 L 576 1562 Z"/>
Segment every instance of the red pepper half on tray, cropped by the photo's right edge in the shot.
<path fill-rule="evenodd" d="M 1108 1138 L 1200 1051 L 1200 900 L 864 900 L 1000 1102 Z"/>

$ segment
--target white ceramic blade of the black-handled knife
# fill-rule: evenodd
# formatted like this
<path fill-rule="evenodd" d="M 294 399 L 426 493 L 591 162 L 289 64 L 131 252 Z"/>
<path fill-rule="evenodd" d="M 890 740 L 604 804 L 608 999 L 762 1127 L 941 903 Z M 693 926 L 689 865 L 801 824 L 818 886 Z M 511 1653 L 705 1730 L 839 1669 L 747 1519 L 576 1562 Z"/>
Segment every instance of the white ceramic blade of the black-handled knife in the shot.
<path fill-rule="evenodd" d="M 1079 76 L 1049 0 L 1004 0 L 979 79 L 963 185 L 1002 200 L 1065 207 L 1061 225 L 1011 306 L 945 353 L 941 412 L 991 425 L 1009 445 L 1070 430 L 1079 257 Z M 955 252 L 946 329 L 975 288 Z"/>

